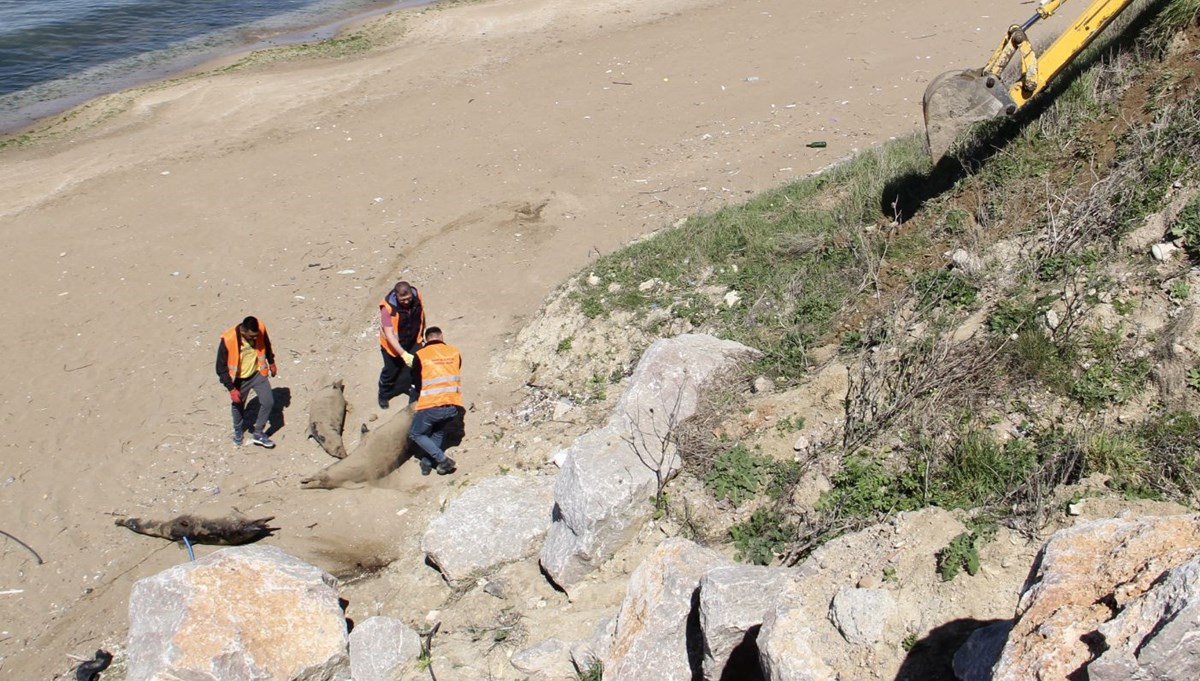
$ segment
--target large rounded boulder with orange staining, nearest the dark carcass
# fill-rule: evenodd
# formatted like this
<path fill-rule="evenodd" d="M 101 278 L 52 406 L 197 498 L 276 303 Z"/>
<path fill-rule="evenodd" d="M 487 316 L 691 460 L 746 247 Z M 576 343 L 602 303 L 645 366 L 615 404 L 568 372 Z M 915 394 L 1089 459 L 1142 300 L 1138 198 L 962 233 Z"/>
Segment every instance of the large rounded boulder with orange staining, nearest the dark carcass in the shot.
<path fill-rule="evenodd" d="M 282 549 L 222 549 L 133 584 L 128 681 L 349 675 L 337 579 Z"/>

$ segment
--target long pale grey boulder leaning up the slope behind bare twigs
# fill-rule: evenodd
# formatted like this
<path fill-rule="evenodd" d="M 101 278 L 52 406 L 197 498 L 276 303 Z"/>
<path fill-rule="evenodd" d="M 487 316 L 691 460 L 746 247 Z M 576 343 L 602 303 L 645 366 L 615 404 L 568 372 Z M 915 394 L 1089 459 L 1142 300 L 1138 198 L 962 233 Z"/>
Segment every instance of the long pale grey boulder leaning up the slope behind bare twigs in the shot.
<path fill-rule="evenodd" d="M 541 566 L 556 584 L 570 592 L 636 532 L 653 511 L 648 499 L 679 470 L 676 427 L 714 382 L 757 354 L 701 335 L 646 350 L 607 424 L 554 457 L 563 468 Z"/>

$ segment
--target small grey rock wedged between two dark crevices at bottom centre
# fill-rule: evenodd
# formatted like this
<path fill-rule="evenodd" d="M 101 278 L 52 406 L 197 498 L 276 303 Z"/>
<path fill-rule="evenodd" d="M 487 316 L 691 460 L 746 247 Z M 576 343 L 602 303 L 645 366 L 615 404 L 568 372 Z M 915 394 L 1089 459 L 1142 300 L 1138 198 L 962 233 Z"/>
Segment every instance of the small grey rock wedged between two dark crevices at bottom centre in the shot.
<path fill-rule="evenodd" d="M 700 580 L 704 679 L 721 679 L 734 649 L 762 626 L 772 602 L 792 579 L 792 569 L 756 565 L 715 567 L 704 574 Z M 757 638 L 757 631 L 751 637 Z"/>

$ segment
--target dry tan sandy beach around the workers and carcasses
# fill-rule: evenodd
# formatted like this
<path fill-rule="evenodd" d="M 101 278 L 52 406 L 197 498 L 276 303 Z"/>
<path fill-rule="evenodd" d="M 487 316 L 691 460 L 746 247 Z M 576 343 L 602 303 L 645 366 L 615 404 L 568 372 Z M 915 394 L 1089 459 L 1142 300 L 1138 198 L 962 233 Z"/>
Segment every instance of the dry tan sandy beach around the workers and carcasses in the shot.
<path fill-rule="evenodd" d="M 114 514 L 274 514 L 283 530 L 269 541 L 330 569 L 415 555 L 448 486 L 510 456 L 482 435 L 521 376 L 491 362 L 564 277 L 678 217 L 918 131 L 925 83 L 979 65 L 1028 11 L 414 10 L 373 19 L 392 37 L 367 55 L 144 88 L 89 109 L 127 102 L 98 125 L 2 152 L 0 529 L 44 565 L 0 537 L 0 677 L 53 677 L 67 653 L 121 640 L 131 584 L 186 560 Z M 804 146 L 815 139 L 828 147 Z M 322 379 L 346 380 L 348 430 L 378 412 L 374 305 L 400 278 L 466 356 L 476 436 L 458 477 L 409 465 L 383 489 L 301 490 L 332 460 L 305 439 Z M 217 336 L 246 314 L 270 326 L 274 382 L 290 393 L 272 451 L 229 442 L 214 375 Z"/>

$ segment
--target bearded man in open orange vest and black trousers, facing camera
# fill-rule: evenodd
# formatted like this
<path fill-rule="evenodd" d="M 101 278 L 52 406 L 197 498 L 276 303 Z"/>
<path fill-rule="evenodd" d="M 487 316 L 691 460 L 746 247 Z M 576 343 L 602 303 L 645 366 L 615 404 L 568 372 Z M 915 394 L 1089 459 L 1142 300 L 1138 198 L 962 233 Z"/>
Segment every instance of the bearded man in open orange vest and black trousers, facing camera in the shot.
<path fill-rule="evenodd" d="M 416 287 L 397 282 L 379 301 L 379 409 L 413 388 L 413 352 L 425 336 L 425 301 Z"/>

